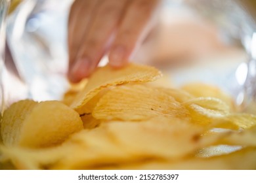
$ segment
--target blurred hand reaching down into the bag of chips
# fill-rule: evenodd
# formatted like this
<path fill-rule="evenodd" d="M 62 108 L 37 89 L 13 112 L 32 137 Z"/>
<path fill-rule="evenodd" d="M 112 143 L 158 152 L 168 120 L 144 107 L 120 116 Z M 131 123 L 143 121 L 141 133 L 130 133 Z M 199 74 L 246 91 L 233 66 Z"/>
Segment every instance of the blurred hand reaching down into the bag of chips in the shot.
<path fill-rule="evenodd" d="M 68 22 L 68 78 L 89 76 L 108 54 L 112 67 L 122 67 L 149 33 L 158 0 L 76 0 Z"/>

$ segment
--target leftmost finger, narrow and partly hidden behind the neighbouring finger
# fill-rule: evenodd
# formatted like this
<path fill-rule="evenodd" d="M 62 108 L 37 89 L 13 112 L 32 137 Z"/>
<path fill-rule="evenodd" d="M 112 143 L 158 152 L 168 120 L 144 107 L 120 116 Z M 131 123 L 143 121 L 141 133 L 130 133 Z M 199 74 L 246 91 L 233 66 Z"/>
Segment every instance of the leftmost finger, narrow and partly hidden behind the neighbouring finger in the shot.
<path fill-rule="evenodd" d="M 69 72 L 74 65 L 83 37 L 88 32 L 91 14 L 96 7 L 96 2 L 95 0 L 77 0 L 70 8 L 68 20 Z"/>

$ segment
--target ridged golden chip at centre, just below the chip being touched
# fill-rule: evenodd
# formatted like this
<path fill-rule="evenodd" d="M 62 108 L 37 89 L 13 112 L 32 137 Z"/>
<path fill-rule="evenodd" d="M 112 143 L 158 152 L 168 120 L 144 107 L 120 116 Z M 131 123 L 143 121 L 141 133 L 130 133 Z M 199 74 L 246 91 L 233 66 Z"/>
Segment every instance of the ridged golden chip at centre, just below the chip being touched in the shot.
<path fill-rule="evenodd" d="M 139 84 L 110 90 L 93 110 L 98 120 L 140 121 L 158 116 L 188 118 L 188 110 L 167 93 Z"/>

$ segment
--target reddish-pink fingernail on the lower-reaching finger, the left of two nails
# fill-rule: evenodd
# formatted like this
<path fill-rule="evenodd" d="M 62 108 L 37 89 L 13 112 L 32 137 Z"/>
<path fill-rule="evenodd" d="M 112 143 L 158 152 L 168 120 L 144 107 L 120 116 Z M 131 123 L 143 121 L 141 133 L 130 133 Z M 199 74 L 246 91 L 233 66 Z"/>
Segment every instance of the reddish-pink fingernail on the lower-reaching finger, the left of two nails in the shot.
<path fill-rule="evenodd" d="M 69 78 L 72 82 L 79 82 L 91 74 L 91 61 L 87 58 L 78 59 L 71 69 Z"/>

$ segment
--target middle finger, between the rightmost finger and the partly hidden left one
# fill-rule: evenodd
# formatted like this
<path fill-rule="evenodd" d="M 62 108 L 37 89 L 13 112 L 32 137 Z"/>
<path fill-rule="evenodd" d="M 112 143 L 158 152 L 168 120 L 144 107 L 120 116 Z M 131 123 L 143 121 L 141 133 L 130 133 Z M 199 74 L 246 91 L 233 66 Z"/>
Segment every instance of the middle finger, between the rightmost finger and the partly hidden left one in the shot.
<path fill-rule="evenodd" d="M 75 81 L 89 76 L 95 70 L 106 52 L 106 45 L 121 18 L 126 2 L 126 0 L 108 0 L 98 3 L 89 33 L 84 38 L 72 70 Z"/>

